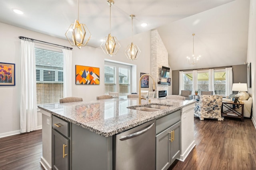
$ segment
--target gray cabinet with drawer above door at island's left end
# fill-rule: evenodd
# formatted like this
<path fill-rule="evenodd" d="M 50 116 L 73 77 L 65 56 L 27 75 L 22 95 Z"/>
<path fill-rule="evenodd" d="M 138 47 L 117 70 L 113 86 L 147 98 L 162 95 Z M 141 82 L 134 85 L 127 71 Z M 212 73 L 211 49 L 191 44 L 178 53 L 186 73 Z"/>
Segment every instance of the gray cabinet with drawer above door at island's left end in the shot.
<path fill-rule="evenodd" d="M 52 169 L 70 169 L 70 123 L 52 116 Z"/>

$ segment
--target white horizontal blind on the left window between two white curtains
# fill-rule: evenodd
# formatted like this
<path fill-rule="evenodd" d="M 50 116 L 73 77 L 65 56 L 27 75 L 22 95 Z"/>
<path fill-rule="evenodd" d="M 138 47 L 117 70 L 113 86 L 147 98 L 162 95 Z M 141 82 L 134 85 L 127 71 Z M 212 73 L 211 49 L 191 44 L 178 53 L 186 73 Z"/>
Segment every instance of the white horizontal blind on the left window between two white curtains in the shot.
<path fill-rule="evenodd" d="M 35 48 L 37 104 L 58 103 L 63 98 L 63 54 Z"/>

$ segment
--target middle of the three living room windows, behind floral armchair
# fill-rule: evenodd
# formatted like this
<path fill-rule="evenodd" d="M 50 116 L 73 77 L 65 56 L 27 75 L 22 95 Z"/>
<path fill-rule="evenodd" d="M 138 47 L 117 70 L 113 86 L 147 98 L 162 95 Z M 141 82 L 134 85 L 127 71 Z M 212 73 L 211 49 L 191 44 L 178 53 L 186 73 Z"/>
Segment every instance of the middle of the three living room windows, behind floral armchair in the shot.
<path fill-rule="evenodd" d="M 197 90 L 200 95 L 202 91 L 209 90 L 209 72 L 202 71 L 197 73 Z"/>

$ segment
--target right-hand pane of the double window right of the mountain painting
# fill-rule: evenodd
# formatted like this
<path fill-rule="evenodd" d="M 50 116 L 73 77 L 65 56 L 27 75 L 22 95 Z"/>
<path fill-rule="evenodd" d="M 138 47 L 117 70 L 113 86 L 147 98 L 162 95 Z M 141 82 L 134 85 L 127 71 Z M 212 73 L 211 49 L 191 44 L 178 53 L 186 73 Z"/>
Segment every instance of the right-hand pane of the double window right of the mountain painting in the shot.
<path fill-rule="evenodd" d="M 119 96 L 130 94 L 130 69 L 119 67 Z"/>

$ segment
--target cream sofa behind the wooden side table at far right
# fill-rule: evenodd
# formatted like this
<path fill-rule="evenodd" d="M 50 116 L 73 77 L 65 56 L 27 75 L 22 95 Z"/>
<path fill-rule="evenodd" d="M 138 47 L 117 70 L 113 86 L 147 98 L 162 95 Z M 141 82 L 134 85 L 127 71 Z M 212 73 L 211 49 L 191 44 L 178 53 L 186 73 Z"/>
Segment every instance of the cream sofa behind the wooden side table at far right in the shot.
<path fill-rule="evenodd" d="M 241 92 L 241 94 L 243 94 L 243 98 L 244 100 L 242 100 L 241 102 L 244 103 L 244 117 L 251 117 L 251 111 L 252 111 L 252 97 L 249 96 L 248 93 L 246 92 Z M 234 96 L 236 94 L 231 94 L 230 96 L 227 96 L 226 98 L 223 98 L 223 101 L 226 102 L 231 102 L 234 99 Z M 241 109 L 242 107 L 239 107 L 239 109 L 237 109 L 237 111 L 239 113 L 241 113 Z M 226 111 L 227 108 L 223 107 L 223 111 Z"/>

